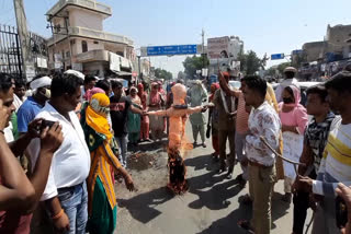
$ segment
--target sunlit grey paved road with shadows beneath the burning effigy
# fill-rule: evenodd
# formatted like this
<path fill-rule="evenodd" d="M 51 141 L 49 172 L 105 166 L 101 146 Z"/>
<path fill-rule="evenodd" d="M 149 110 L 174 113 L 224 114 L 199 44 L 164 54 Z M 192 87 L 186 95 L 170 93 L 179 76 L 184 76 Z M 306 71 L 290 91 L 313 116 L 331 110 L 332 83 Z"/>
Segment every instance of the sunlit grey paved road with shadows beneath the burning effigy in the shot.
<path fill-rule="evenodd" d="M 192 141 L 190 126 L 186 126 L 186 133 Z M 251 207 L 238 202 L 238 199 L 248 192 L 248 186 L 240 189 L 234 179 L 216 175 L 218 165 L 211 159 L 213 150 L 210 140 L 206 143 L 206 149 L 195 148 L 185 159 L 190 189 L 183 196 L 173 196 L 166 188 L 165 145 L 160 142 L 140 144 L 138 150 L 152 154 L 155 162 L 149 168 L 144 169 L 148 166 L 140 159 L 135 163 L 143 165 L 129 171 L 138 191 L 128 192 L 123 184 L 116 185 L 118 217 L 115 233 L 246 233 L 236 223 L 239 219 L 251 217 Z M 240 173 L 240 167 L 237 165 L 234 178 Z M 282 194 L 283 183 L 280 182 L 273 195 L 271 233 L 290 234 L 293 204 L 281 201 Z"/>

